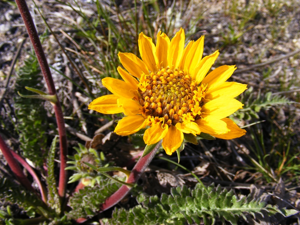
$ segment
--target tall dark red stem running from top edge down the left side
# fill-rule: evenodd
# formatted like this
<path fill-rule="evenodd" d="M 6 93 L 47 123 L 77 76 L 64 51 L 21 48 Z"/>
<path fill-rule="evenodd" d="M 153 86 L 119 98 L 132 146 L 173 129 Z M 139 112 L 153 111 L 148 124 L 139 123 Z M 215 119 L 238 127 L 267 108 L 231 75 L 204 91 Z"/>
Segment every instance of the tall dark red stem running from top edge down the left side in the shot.
<path fill-rule="evenodd" d="M 34 51 L 37 55 L 38 62 L 40 64 L 42 74 L 47 83 L 48 91 L 50 95 L 56 95 L 56 90 L 53 82 L 53 78 L 50 72 L 49 65 L 47 63 L 47 59 L 45 53 L 42 48 L 42 44 L 37 34 L 37 30 L 35 29 L 32 17 L 30 15 L 29 9 L 25 0 L 16 0 L 17 6 L 21 13 L 22 19 L 25 23 L 28 35 L 32 42 Z M 64 198 L 66 194 L 66 185 L 67 185 L 67 171 L 66 162 L 67 162 L 67 154 L 68 154 L 68 146 L 67 146 L 67 135 L 66 128 L 63 119 L 63 111 L 60 105 L 60 102 L 57 101 L 53 106 L 55 111 L 56 122 L 58 126 L 58 134 L 59 134 L 59 147 L 60 147 L 60 173 L 59 173 L 59 183 L 58 183 L 58 194 L 60 197 Z"/>

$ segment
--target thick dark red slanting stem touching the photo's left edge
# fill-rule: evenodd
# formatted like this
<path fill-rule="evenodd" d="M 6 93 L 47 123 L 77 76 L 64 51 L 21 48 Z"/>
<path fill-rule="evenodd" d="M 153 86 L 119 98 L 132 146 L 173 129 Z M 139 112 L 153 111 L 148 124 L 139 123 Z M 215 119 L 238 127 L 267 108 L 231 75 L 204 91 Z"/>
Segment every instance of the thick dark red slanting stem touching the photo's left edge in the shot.
<path fill-rule="evenodd" d="M 19 163 L 17 162 L 17 160 L 12 156 L 12 153 L 10 151 L 10 149 L 7 147 L 6 143 L 4 142 L 4 140 L 2 139 L 2 137 L 0 136 L 0 149 L 8 163 L 8 166 L 10 167 L 10 169 L 12 170 L 12 172 L 15 174 L 15 176 L 17 177 L 18 181 L 27 188 L 27 190 L 30 190 L 34 193 L 36 193 L 36 191 L 34 190 L 34 188 L 31 186 L 31 183 L 29 182 L 29 180 L 27 179 L 27 177 L 25 176 L 25 174 L 23 173 Z"/>

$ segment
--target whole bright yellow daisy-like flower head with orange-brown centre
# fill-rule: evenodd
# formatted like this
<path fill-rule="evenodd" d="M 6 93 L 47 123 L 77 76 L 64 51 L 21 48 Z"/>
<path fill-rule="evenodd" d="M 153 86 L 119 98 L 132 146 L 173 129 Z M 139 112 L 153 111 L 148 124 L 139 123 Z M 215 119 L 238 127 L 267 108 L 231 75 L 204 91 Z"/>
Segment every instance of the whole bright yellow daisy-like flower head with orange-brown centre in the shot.
<path fill-rule="evenodd" d="M 163 148 L 171 155 L 181 146 L 183 133 L 208 133 L 222 139 L 241 137 L 246 133 L 229 115 L 242 108 L 234 99 L 247 89 L 247 85 L 225 82 L 236 69 L 221 66 L 207 76 L 219 52 L 202 58 L 204 36 L 190 41 L 184 47 L 181 28 L 170 41 L 158 32 L 156 46 L 142 33 L 138 47 L 141 59 L 132 53 L 119 53 L 126 70 L 118 67 L 124 81 L 102 79 L 113 94 L 95 99 L 89 109 L 100 113 L 121 113 L 115 131 L 119 135 L 145 131 L 146 144 L 163 139 Z"/>

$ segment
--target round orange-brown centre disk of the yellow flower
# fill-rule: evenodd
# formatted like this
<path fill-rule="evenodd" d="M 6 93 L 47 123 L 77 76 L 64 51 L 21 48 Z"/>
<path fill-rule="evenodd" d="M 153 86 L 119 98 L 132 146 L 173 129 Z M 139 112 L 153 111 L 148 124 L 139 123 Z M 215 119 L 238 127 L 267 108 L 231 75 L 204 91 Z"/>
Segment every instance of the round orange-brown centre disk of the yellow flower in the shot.
<path fill-rule="evenodd" d="M 136 101 L 149 110 L 146 115 L 164 118 L 169 127 L 186 118 L 190 121 L 201 118 L 206 86 L 197 86 L 183 70 L 161 68 L 149 75 L 143 74 L 138 87 Z"/>

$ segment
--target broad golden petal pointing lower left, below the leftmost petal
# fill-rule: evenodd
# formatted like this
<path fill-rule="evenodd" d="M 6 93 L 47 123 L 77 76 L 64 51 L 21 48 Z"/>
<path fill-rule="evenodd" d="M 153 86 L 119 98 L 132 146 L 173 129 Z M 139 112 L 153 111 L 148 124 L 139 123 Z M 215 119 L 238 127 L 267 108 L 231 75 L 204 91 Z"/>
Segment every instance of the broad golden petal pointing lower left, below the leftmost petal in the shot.
<path fill-rule="evenodd" d="M 115 128 L 114 132 L 118 135 L 126 136 L 129 134 L 136 133 L 140 129 L 144 128 L 146 124 L 147 119 L 143 118 L 142 116 L 127 116 L 118 122 L 118 125 Z"/>

